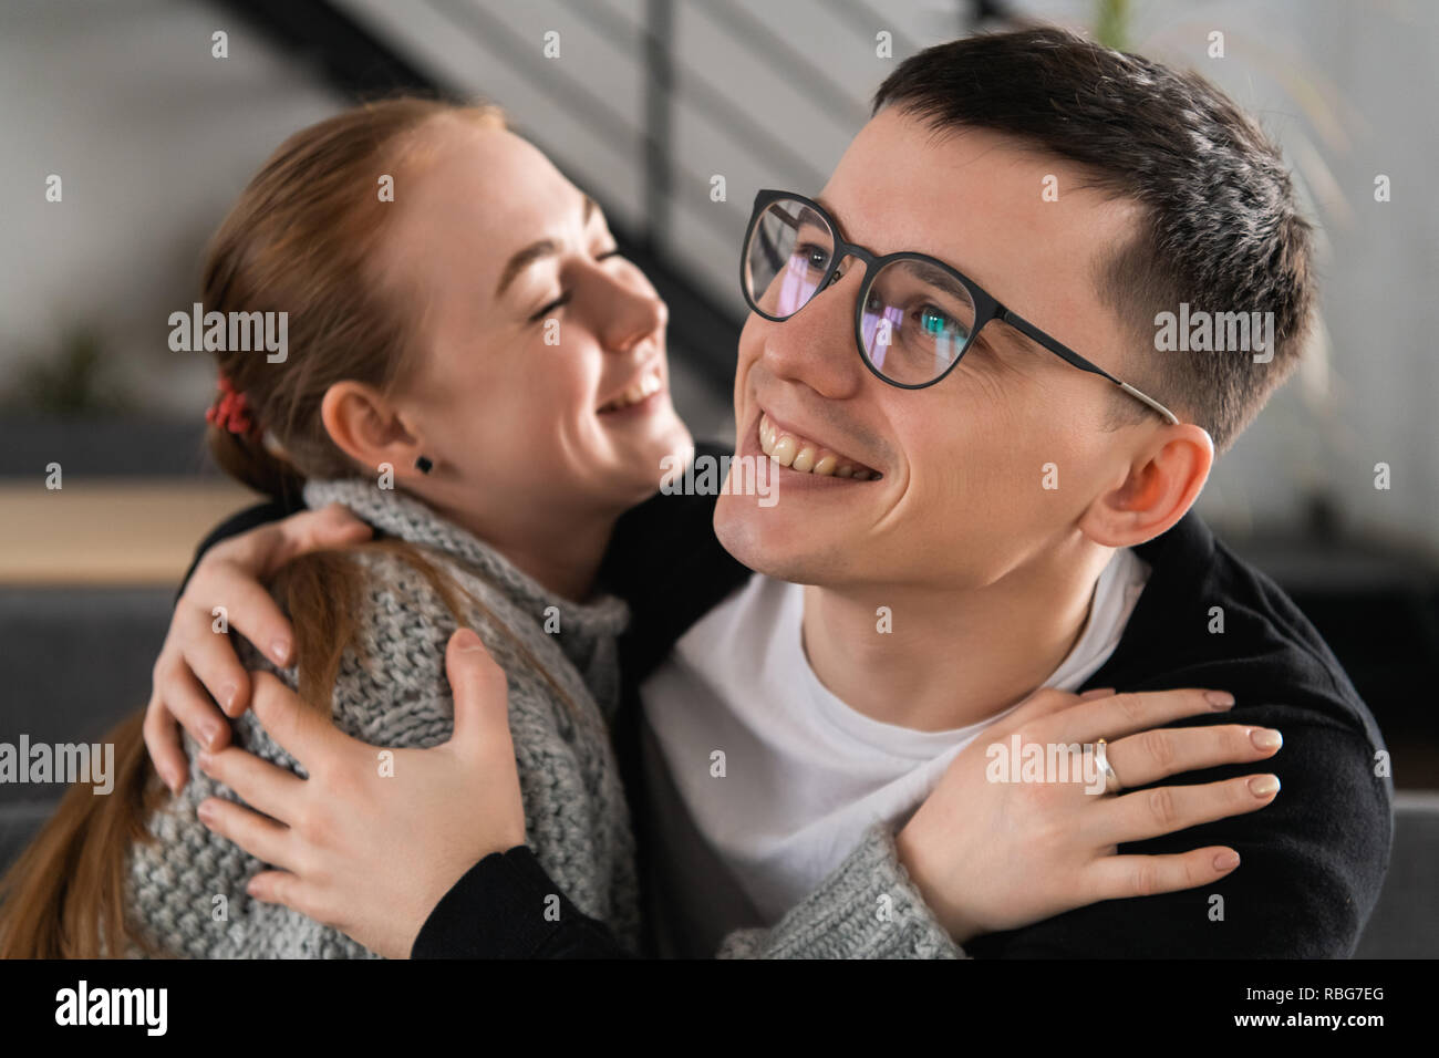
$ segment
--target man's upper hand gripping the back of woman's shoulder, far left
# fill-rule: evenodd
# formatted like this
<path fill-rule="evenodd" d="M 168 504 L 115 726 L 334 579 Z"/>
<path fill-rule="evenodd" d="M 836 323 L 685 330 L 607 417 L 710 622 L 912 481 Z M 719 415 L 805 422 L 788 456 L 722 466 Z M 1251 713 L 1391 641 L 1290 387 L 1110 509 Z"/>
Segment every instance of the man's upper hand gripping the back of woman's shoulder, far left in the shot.
<path fill-rule="evenodd" d="M 217 632 L 216 607 L 229 628 L 259 646 L 276 665 L 289 665 L 294 632 L 260 583 L 307 551 L 344 547 L 370 538 L 370 527 L 338 504 L 302 511 L 237 537 L 222 540 L 200 557 L 176 603 L 170 632 L 151 672 L 145 707 L 145 749 L 174 793 L 189 779 L 180 728 L 200 746 L 219 750 L 230 740 L 224 713 L 237 717 L 250 700 L 250 678 L 235 646 Z"/>

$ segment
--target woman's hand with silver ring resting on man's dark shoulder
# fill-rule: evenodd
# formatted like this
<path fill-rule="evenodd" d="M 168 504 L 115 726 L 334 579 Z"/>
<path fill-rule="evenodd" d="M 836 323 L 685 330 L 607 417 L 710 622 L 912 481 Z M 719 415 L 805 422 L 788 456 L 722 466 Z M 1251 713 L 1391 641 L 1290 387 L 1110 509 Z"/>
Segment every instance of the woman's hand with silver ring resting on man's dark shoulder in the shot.
<path fill-rule="evenodd" d="M 1274 800 L 1279 785 L 1272 774 L 1122 793 L 1122 787 L 1183 772 L 1272 757 L 1279 737 L 1268 728 L 1161 728 L 1232 704 L 1230 695 L 1216 691 L 1091 691 L 1079 698 L 1040 689 L 954 759 L 896 836 L 899 861 L 961 944 L 1101 900 L 1173 892 L 1223 878 L 1239 864 L 1229 848 L 1120 856 L 1115 846 L 1253 812 Z M 1105 783 L 1091 785 L 1091 777 L 991 782 L 990 747 L 1002 746 L 1012 756 L 1016 734 L 1020 746 L 1039 746 L 1046 759 L 1052 747 L 1088 749 L 1108 740 L 1108 763 L 1121 792 L 1112 792 L 1112 782 L 1111 792 L 1104 792 Z M 1091 751 L 1084 761 L 1092 776 Z"/>

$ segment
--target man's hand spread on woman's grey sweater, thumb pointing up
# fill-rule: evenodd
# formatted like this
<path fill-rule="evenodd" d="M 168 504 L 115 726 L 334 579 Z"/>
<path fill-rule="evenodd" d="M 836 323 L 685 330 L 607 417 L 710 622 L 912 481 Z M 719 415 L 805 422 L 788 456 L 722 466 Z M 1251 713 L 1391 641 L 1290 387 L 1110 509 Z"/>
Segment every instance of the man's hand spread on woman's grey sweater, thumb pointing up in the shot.
<path fill-rule="evenodd" d="M 252 897 L 407 959 L 430 911 L 471 867 L 524 844 L 505 674 L 469 629 L 450 638 L 445 671 L 455 734 L 429 750 L 357 741 L 256 674 L 255 717 L 309 779 L 236 747 L 200 759 L 206 774 L 259 809 L 222 797 L 199 808 L 207 828 L 278 868 L 250 880 Z M 386 769 L 381 753 L 394 754 Z"/>

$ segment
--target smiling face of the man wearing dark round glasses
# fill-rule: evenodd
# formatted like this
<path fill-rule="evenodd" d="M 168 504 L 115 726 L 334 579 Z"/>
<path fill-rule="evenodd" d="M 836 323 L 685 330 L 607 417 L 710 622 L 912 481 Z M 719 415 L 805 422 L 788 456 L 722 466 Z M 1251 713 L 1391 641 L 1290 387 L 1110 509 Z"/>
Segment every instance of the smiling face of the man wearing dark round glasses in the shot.
<path fill-rule="evenodd" d="M 1058 202 L 1043 194 L 1049 176 Z M 1079 190 L 1079 180 L 997 134 L 937 137 L 886 109 L 817 200 L 843 239 L 948 262 L 1122 379 L 1132 340 L 1099 304 L 1097 275 L 1132 233 L 1135 210 Z M 764 458 L 773 428 L 794 436 L 791 451 L 809 443 L 879 476 L 776 468 L 777 502 L 721 495 L 715 533 L 751 569 L 830 587 L 976 589 L 1022 570 L 1125 481 L 1134 430 L 1104 429 L 1114 387 L 997 321 L 938 384 L 889 386 L 855 345 L 862 275 L 858 261 L 840 262 L 839 279 L 784 322 L 750 314 L 735 373 L 737 452 Z"/>

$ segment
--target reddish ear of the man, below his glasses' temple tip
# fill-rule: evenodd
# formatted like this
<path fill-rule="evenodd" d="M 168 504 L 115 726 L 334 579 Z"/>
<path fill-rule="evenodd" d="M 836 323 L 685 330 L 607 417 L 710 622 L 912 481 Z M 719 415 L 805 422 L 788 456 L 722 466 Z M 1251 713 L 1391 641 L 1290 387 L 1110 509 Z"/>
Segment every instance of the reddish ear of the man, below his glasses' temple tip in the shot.
<path fill-rule="evenodd" d="M 1209 430 L 1167 426 L 1141 451 L 1118 488 L 1095 497 L 1081 531 L 1105 547 L 1134 547 L 1167 531 L 1199 498 L 1215 465 Z"/>

